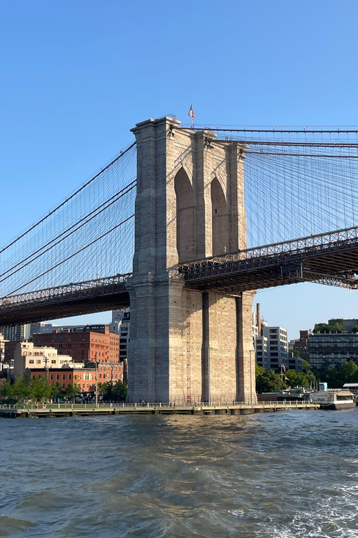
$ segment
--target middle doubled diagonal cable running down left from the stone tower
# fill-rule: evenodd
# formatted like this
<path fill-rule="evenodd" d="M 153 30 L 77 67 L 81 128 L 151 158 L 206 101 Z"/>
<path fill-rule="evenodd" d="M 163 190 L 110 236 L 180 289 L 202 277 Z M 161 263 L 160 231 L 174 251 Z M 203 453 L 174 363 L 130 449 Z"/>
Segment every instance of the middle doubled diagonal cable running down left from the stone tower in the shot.
<path fill-rule="evenodd" d="M 10 275 L 7 275 L 5 278 L 1 279 L 0 282 L 3 282 L 4 280 L 12 277 L 13 275 L 15 275 L 17 272 L 21 271 L 23 268 L 27 267 L 28 265 L 30 265 L 30 263 L 32 263 L 33 261 L 35 261 L 36 259 L 40 258 L 41 256 L 43 256 L 46 252 L 49 252 L 52 248 L 54 248 L 55 246 L 59 245 L 59 243 L 61 243 L 61 241 L 64 241 L 65 239 L 67 239 L 67 237 L 70 237 L 70 235 L 74 234 L 74 232 L 77 232 L 78 230 L 80 230 L 81 228 L 83 228 L 83 226 L 85 226 L 86 224 L 88 224 L 90 221 L 92 221 L 92 219 L 95 219 L 96 217 L 98 217 L 98 215 L 101 215 L 101 213 L 103 211 L 105 211 L 106 209 L 108 209 L 110 206 L 112 206 L 114 203 L 116 203 L 116 201 L 118 201 L 120 198 L 122 198 L 123 196 L 127 195 L 131 190 L 133 190 L 136 186 L 136 179 L 134 181 L 132 181 L 131 183 L 129 183 L 129 185 L 127 185 L 127 187 L 123 188 L 122 190 L 120 190 L 119 192 L 116 193 L 116 195 L 112 196 L 111 198 L 109 198 L 108 200 L 106 200 L 105 202 L 103 202 L 101 204 L 101 206 L 98 206 L 98 208 L 96 209 L 96 213 L 94 215 L 92 215 L 91 217 L 89 217 L 89 213 L 87 213 L 87 215 L 85 215 L 85 217 L 83 217 L 81 220 L 79 220 L 78 222 L 76 222 L 75 224 L 73 224 L 72 226 L 70 226 L 70 228 L 67 228 L 67 230 L 65 230 L 65 232 L 63 232 L 63 234 L 66 234 L 67 232 L 67 235 L 63 235 L 63 234 L 60 234 L 58 235 L 57 237 L 54 237 L 54 239 L 52 239 L 51 241 L 48 241 L 48 243 L 46 243 L 45 245 L 41 246 L 41 248 L 39 248 L 38 250 L 35 250 L 35 252 L 32 252 L 32 254 L 30 254 L 28 257 L 24 258 L 23 260 L 19 261 L 19 263 L 17 263 L 16 265 L 10 267 L 9 269 L 7 269 L 5 272 L 3 272 L 1 275 L 0 275 L 0 278 L 3 277 L 4 275 L 6 275 L 6 273 L 12 271 L 10 273 Z M 107 206 L 105 205 L 107 204 Z M 105 207 L 103 207 L 105 206 Z M 89 217 L 89 218 L 88 218 Z M 85 220 L 87 219 L 87 220 Z M 85 222 L 83 222 L 85 221 Z M 81 223 L 81 225 L 80 225 Z M 76 228 L 77 226 L 77 228 Z M 74 230 L 72 230 L 72 228 L 75 228 Z M 72 231 L 70 231 L 72 230 Z M 60 239 L 61 238 L 61 239 Z M 57 239 L 60 239 L 59 241 L 57 241 Z M 56 243 L 54 243 L 54 241 L 57 241 Z M 50 248 L 46 248 L 50 245 Z M 43 250 L 44 248 L 46 248 L 46 250 Z M 43 250 L 43 252 L 41 252 L 41 250 Z M 35 256 L 36 254 L 38 254 L 40 252 L 40 254 L 38 256 Z M 33 257 L 34 256 L 34 257 Z M 24 263 L 25 261 L 27 261 L 29 258 L 30 261 L 28 261 L 28 263 Z M 21 265 L 22 264 L 22 265 Z M 18 267 L 20 266 L 21 267 Z"/>

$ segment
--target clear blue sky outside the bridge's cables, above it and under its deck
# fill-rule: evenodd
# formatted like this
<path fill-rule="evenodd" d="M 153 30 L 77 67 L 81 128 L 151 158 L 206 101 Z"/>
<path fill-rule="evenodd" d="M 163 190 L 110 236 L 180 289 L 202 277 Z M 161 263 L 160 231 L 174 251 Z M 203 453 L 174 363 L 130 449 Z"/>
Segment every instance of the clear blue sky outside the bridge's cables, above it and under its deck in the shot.
<path fill-rule="evenodd" d="M 354 0 L 3 1 L 0 243 L 148 117 L 186 123 L 193 103 L 203 124 L 357 125 L 357 20 Z M 269 324 L 297 337 L 358 317 L 356 294 L 300 284 L 256 297 Z"/>

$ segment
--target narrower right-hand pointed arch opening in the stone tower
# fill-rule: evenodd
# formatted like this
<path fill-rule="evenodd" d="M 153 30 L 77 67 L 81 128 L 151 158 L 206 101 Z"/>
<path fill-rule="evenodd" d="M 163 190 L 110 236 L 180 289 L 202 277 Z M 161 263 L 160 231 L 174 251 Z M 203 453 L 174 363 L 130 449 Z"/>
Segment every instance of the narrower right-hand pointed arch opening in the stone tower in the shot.
<path fill-rule="evenodd" d="M 213 256 L 229 252 L 227 201 L 218 178 L 211 181 Z"/>

